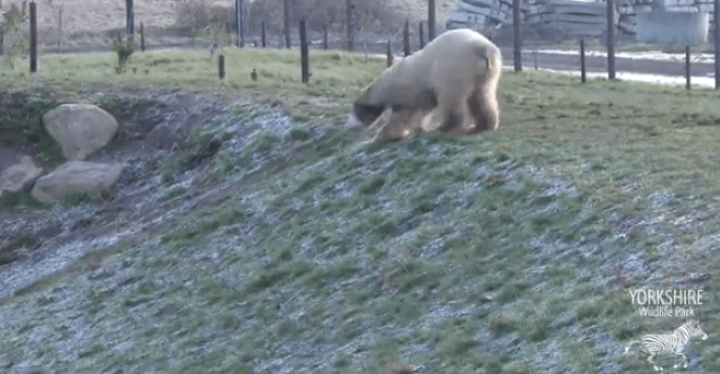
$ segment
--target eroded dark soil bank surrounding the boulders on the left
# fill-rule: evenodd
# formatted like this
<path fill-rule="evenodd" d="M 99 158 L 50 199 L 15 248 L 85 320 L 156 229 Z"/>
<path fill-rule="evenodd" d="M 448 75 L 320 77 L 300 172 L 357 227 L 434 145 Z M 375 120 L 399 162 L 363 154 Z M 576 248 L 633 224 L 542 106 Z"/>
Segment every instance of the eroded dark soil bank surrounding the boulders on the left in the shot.
<path fill-rule="evenodd" d="M 292 127 L 279 108 L 258 109 L 220 95 L 124 89 L 73 98 L 48 92 L 0 95 L 5 119 L 0 131 L 3 159 L 30 154 L 45 172 L 59 165 L 62 154 L 42 127 L 40 116 L 56 105 L 84 101 L 120 124 L 112 142 L 88 161 L 121 162 L 125 171 L 102 201 L 42 206 L 28 191 L 5 194 L 0 207 L 0 297 L 30 291 L 38 279 L 60 270 L 81 271 L 76 260 L 89 252 L 96 257 L 111 254 L 118 245 L 131 245 L 166 226 L 174 217 L 221 200 L 234 184 L 258 170 L 255 165 L 240 173 L 237 180 L 217 184 L 217 175 L 222 174 L 212 174 L 218 151 L 241 153 L 256 132 L 283 137 Z M 80 262 L 93 266 L 92 260 Z"/>

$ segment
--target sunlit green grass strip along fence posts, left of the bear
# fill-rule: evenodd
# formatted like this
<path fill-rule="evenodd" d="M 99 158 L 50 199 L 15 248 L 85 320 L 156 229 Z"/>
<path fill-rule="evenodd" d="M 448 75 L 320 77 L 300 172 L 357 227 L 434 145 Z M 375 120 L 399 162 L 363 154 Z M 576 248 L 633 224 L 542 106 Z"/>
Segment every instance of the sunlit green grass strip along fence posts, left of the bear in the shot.
<path fill-rule="evenodd" d="M 299 94 L 306 97 L 351 98 L 380 71 L 381 63 L 365 63 L 361 55 L 313 50 L 311 84 L 300 80 L 300 55 L 297 50 L 224 50 L 227 75 L 218 78 L 217 55 L 207 51 L 136 52 L 130 57 L 127 72 L 115 73 L 117 55 L 43 56 L 39 77 L 25 80 L 24 73 L 0 71 L 0 87 L 30 89 L 37 85 L 91 90 L 94 84 L 152 85 L 162 84 L 193 90 L 221 90 L 249 95 L 270 95 L 283 101 Z M 295 67 L 297 66 L 297 67 Z M 372 67 L 372 68 L 370 68 Z M 295 69 L 297 68 L 297 69 Z M 251 72 L 256 69 L 258 79 Z M 135 72 L 133 72 L 135 71 Z M 20 80 L 18 79 L 20 77 Z"/>

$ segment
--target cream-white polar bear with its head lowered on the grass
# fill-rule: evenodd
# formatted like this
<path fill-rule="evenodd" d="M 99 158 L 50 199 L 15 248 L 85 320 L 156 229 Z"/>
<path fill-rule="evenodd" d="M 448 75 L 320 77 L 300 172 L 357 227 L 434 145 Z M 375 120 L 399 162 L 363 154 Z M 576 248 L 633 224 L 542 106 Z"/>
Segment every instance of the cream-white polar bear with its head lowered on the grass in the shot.
<path fill-rule="evenodd" d="M 469 135 L 500 125 L 497 91 L 500 48 L 479 33 L 448 31 L 387 68 L 352 106 L 351 120 L 368 127 L 390 108 L 373 141 L 410 133 Z M 436 117 L 442 122 L 430 125 Z"/>

